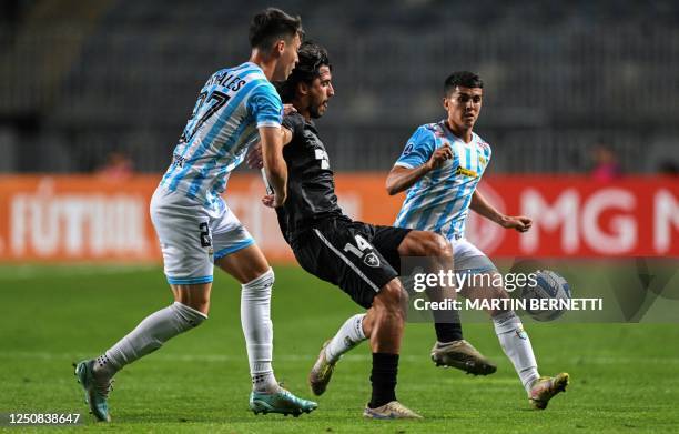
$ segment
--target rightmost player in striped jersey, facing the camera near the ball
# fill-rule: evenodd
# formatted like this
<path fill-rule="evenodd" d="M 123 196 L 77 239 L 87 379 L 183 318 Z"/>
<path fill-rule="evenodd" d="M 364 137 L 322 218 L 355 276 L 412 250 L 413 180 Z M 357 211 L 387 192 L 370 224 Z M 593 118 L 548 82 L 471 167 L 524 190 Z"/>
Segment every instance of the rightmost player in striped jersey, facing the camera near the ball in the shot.
<path fill-rule="evenodd" d="M 495 264 L 465 239 L 469 210 L 519 232 L 528 231 L 531 220 L 501 214 L 476 189 L 491 155 L 488 143 L 473 132 L 482 109 L 483 87 L 480 78 L 467 71 L 454 72 L 446 79 L 443 104 L 447 118 L 415 131 L 389 172 L 386 186 L 389 194 L 407 190 L 395 226 L 446 236 L 453 244 L 457 272 L 495 274 Z M 467 291 L 472 297 L 488 293 L 508 296 L 501 287 Z M 555 394 L 566 388 L 568 374 L 540 377 L 530 340 L 515 312 L 493 311 L 490 315 L 500 345 L 511 360 L 530 403 L 536 408 L 545 408 Z M 454 344 L 437 342 L 432 350 L 434 362 L 445 364 L 442 362 L 446 349 Z"/>

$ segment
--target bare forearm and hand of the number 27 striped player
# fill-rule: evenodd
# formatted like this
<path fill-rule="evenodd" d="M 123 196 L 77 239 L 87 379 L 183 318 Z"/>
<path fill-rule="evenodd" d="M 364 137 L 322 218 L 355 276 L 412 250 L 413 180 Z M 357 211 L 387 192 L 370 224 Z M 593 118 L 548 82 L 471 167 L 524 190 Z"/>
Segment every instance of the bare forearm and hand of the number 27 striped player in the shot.
<path fill-rule="evenodd" d="M 266 171 L 266 179 L 274 191 L 273 198 L 268 198 L 267 201 L 271 203 L 265 204 L 274 208 L 281 206 L 285 202 L 287 192 L 287 165 L 283 160 L 281 129 L 262 127 L 259 130 L 262 143 L 262 162 Z"/>

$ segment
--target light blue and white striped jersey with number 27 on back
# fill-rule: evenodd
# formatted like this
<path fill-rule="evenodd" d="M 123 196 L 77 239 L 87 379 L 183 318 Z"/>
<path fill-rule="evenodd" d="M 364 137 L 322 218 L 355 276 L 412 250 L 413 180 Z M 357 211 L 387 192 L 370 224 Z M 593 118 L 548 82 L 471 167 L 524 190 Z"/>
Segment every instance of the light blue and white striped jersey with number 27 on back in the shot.
<path fill-rule="evenodd" d="M 161 185 L 205 205 L 215 203 L 259 139 L 257 128 L 280 127 L 282 120 L 281 97 L 259 65 L 246 62 L 215 72 L 201 89 Z"/>

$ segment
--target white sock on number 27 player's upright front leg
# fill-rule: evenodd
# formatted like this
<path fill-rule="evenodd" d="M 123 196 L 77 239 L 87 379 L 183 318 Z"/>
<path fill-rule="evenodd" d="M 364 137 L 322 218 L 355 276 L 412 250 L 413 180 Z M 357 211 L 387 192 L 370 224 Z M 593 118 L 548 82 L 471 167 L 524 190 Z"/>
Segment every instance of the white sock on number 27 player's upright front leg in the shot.
<path fill-rule="evenodd" d="M 273 324 L 271 322 L 272 269 L 241 289 L 241 326 L 245 335 L 252 386 L 256 392 L 273 392 L 278 383 L 271 365 Z"/>

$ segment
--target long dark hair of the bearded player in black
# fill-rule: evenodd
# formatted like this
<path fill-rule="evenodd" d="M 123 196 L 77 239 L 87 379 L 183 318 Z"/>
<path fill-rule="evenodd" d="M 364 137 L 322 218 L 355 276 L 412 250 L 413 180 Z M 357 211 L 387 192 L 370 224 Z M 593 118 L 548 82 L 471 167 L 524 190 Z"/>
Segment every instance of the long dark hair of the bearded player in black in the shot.
<path fill-rule="evenodd" d="M 297 83 L 304 82 L 311 84 L 321 75 L 318 72 L 321 67 L 333 69 L 327 57 L 327 50 L 313 41 L 304 41 L 300 46 L 297 55 L 300 60 L 287 80 L 276 83 L 276 89 L 285 103 L 292 102 L 293 98 L 295 98 Z"/>

